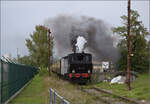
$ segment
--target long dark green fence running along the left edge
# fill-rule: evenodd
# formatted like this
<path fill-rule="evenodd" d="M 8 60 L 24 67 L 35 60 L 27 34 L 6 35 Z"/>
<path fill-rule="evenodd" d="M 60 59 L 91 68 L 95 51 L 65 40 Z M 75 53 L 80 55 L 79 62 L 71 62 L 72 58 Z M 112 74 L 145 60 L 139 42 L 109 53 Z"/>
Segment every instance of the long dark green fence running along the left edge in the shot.
<path fill-rule="evenodd" d="M 37 73 L 34 67 L 0 59 L 0 104 L 4 104 Z"/>

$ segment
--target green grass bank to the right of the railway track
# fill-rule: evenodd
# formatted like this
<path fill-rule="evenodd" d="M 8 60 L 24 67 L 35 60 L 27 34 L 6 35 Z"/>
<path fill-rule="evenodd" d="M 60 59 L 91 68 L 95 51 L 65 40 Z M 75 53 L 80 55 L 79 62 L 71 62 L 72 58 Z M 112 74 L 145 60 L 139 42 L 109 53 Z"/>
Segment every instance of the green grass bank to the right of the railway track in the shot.
<path fill-rule="evenodd" d="M 136 100 L 147 100 L 150 101 L 150 75 L 142 74 L 133 83 L 131 83 L 131 91 L 127 90 L 125 84 L 113 84 L 110 85 L 108 82 L 97 83 L 95 85 L 90 85 L 99 87 L 113 92 L 114 94 L 136 99 Z"/>

